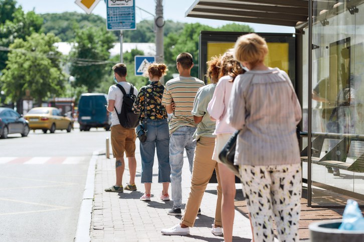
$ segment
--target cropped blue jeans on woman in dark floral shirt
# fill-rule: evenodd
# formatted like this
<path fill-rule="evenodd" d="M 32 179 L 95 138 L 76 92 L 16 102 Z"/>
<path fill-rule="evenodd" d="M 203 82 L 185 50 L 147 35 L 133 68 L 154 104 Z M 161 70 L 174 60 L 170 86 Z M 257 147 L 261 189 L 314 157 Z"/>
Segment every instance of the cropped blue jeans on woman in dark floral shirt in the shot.
<path fill-rule="evenodd" d="M 158 182 L 170 182 L 169 130 L 167 119 L 147 119 L 146 141 L 140 142 L 141 183 L 151 183 L 155 148 L 158 158 Z"/>

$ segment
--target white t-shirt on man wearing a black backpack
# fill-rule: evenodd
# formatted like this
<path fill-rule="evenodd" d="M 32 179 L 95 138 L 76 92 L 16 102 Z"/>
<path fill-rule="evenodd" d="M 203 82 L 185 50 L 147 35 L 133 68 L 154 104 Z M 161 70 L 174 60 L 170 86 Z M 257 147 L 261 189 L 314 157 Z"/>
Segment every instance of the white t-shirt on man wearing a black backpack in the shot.
<path fill-rule="evenodd" d="M 130 93 L 130 83 L 128 82 L 119 82 L 119 84 L 124 88 L 125 93 Z M 134 87 L 134 95 L 137 96 L 138 95 L 138 90 Z M 112 85 L 109 88 L 109 93 L 107 94 L 107 101 L 109 100 L 115 100 L 115 108 L 117 110 L 118 113 L 121 112 L 121 106 L 123 104 L 123 93 L 121 92 L 121 90 L 115 86 Z M 115 108 L 112 111 L 112 116 L 111 116 L 111 126 L 120 124 L 119 119 L 117 117 L 117 114 L 115 112 Z"/>

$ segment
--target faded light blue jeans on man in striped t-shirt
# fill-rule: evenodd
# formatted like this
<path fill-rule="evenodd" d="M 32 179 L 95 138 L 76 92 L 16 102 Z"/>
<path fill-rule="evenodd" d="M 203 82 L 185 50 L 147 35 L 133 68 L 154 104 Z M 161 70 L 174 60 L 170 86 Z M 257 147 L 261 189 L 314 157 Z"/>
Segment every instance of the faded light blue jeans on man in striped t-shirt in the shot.
<path fill-rule="evenodd" d="M 196 127 L 181 126 L 170 135 L 169 140 L 169 163 L 170 163 L 170 182 L 173 207 L 182 206 L 182 167 L 184 164 L 184 150 L 186 149 L 189 159 L 190 172 L 194 164 L 196 141 L 192 137 Z"/>

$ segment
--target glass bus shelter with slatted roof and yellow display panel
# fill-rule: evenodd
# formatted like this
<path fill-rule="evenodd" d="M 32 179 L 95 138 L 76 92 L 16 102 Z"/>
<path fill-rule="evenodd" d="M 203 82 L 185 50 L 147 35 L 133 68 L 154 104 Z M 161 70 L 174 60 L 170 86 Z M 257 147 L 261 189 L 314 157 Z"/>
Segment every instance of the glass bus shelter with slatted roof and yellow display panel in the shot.
<path fill-rule="evenodd" d="M 267 63 L 288 70 L 302 105 L 308 205 L 343 206 L 350 197 L 364 205 L 364 0 L 197 0 L 186 17 L 295 28 L 261 35 L 268 44 L 290 39 L 286 69 L 284 55 Z M 230 48 L 216 47 L 238 36 L 201 33 L 200 78 L 209 57 Z"/>

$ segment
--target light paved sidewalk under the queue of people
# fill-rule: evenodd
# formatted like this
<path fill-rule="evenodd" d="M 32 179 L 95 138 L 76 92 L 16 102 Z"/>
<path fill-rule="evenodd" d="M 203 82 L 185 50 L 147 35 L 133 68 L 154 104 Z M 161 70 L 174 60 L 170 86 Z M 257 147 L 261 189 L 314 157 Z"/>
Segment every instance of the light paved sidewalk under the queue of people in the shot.
<path fill-rule="evenodd" d="M 216 206 L 216 185 L 209 184 L 201 204 L 202 215 L 198 215 L 195 227 L 190 228 L 189 236 L 168 236 L 160 233 L 162 228 L 175 225 L 181 216 L 167 215 L 173 202 L 162 202 L 158 195 L 162 185 L 157 183 L 158 166 L 154 159 L 152 199 L 150 202 L 140 201 L 144 192 L 144 185 L 140 183 L 141 161 L 139 143 L 136 148 L 136 179 L 137 191 L 124 191 L 123 193 L 105 192 L 115 182 L 115 159 L 110 155 L 99 155 L 96 161 L 95 194 L 92 209 L 90 229 L 91 241 L 223 241 L 223 236 L 211 233 L 211 224 L 214 222 Z M 183 168 L 182 188 L 183 203 L 188 199 L 191 177 L 188 160 L 185 155 Z M 124 171 L 123 186 L 129 181 L 127 167 Z M 246 202 L 242 195 L 241 184 L 236 184 L 237 195 L 235 201 L 234 241 L 247 241 L 252 238 L 249 219 L 247 218 Z M 306 193 L 303 189 L 301 199 L 300 240 L 309 239 L 308 224 L 318 220 L 341 218 L 343 209 L 311 208 L 307 207 Z M 169 187 L 170 194 L 170 187 Z M 154 195 L 154 196 L 153 196 Z"/>

